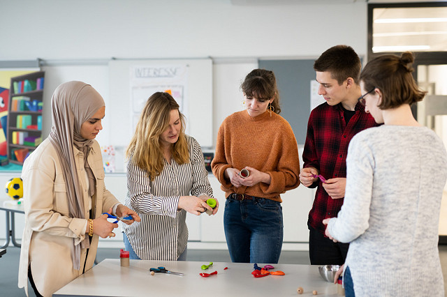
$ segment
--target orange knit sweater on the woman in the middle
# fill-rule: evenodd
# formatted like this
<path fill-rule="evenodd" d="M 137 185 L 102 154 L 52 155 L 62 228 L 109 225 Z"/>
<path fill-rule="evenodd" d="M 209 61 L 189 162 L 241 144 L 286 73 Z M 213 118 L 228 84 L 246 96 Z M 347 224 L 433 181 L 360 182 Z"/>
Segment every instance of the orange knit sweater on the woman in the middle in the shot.
<path fill-rule="evenodd" d="M 270 175 L 270 185 L 236 188 L 223 175 L 228 167 L 246 166 Z M 211 163 L 226 196 L 237 193 L 282 202 L 279 194 L 300 185 L 298 146 L 291 125 L 278 114 L 251 117 L 246 110 L 228 116 L 219 128 L 216 155 Z"/>

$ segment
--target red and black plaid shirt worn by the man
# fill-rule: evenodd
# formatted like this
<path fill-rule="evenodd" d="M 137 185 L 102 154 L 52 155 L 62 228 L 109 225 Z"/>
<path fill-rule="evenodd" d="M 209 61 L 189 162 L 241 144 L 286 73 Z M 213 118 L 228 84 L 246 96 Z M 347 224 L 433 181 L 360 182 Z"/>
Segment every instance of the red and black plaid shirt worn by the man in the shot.
<path fill-rule="evenodd" d="M 356 105 L 356 113 L 346 125 L 344 109 L 339 103 L 330 106 L 327 103 L 318 105 L 312 110 L 307 124 L 307 137 L 302 153 L 304 167 L 315 167 L 324 178 L 346 178 L 346 155 L 349 142 L 358 132 L 376 126 L 374 118 L 365 112 L 360 103 Z M 332 199 L 316 181 L 310 188 L 315 188 L 314 205 L 309 213 L 307 224 L 324 234 L 325 218 L 333 218 L 342 208 L 342 199 Z"/>

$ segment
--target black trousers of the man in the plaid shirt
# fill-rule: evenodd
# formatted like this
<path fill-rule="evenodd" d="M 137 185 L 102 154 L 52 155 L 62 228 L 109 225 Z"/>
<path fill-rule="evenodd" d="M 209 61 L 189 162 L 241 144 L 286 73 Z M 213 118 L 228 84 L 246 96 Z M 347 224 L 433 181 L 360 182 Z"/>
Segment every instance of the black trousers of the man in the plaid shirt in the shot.
<path fill-rule="evenodd" d="M 312 265 L 343 265 L 349 243 L 335 243 L 320 231 L 309 227 L 309 257 Z"/>

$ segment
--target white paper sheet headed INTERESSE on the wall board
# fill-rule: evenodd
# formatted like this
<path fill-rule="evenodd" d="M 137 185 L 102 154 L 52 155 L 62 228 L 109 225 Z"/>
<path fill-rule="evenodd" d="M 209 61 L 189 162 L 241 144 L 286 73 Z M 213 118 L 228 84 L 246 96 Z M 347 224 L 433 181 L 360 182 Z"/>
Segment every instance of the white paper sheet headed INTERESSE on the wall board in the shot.
<path fill-rule="evenodd" d="M 146 104 L 147 98 L 155 92 L 168 92 L 177 101 L 180 112 L 188 119 L 188 66 L 187 65 L 154 65 L 154 66 L 132 66 L 131 69 L 131 133 L 140 118 L 141 111 Z M 186 130 L 187 130 L 186 125 Z"/>

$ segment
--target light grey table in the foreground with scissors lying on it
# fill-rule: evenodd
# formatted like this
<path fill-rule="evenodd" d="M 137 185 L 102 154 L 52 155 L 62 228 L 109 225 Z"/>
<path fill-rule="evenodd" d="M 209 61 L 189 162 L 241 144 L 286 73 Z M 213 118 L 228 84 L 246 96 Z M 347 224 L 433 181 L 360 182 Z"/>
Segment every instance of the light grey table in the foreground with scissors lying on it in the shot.
<path fill-rule="evenodd" d="M 130 260 L 129 267 L 120 266 L 119 259 L 105 259 L 73 282 L 56 291 L 53 296 L 337 296 L 337 285 L 325 282 L 318 266 L 274 264 L 272 271 L 286 275 L 268 275 L 255 278 L 253 264 L 215 262 L 206 271 L 200 269 L 205 262 L 196 261 L 143 261 Z M 184 276 L 156 273 L 149 268 L 165 266 Z M 259 265 L 261 266 L 261 264 Z M 227 270 L 223 268 L 228 267 Z M 199 273 L 217 275 L 201 277 Z"/>

